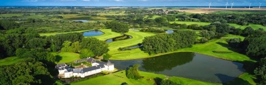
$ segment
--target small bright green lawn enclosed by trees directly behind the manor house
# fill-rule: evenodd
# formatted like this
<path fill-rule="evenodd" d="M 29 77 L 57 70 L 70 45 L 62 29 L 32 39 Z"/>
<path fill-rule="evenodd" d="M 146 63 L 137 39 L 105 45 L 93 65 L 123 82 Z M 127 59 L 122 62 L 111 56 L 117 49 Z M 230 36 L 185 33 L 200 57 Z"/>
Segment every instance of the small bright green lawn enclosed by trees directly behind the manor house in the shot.
<path fill-rule="evenodd" d="M 56 62 L 57 64 L 60 63 L 71 63 L 74 62 L 75 60 L 79 60 L 79 54 L 78 53 L 73 53 L 73 52 L 60 52 L 60 53 L 53 53 L 59 62 Z"/>

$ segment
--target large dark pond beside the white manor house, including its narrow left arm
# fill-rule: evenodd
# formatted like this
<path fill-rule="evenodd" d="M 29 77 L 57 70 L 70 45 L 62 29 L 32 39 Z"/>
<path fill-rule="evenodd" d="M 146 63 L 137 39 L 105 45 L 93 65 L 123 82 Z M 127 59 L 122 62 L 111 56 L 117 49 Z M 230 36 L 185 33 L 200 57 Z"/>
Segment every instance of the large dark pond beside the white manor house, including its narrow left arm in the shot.
<path fill-rule="evenodd" d="M 178 52 L 147 59 L 112 60 L 111 62 L 120 70 L 140 64 L 141 71 L 219 83 L 231 81 L 245 72 L 241 63 L 194 52 Z"/>

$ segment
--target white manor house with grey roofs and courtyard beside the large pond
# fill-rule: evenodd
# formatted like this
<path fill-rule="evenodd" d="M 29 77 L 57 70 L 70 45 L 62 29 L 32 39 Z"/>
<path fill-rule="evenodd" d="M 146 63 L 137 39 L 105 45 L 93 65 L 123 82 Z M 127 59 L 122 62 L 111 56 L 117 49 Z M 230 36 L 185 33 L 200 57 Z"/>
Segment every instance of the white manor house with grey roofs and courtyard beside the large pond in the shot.
<path fill-rule="evenodd" d="M 70 78 L 70 77 L 85 77 L 88 75 L 100 73 L 101 71 L 114 71 L 115 67 L 110 61 L 107 63 L 96 61 L 93 58 L 85 58 L 81 60 L 76 60 L 74 63 L 88 62 L 91 63 L 91 67 L 85 68 L 70 68 L 66 64 L 57 64 L 55 66 L 58 69 L 58 72 L 62 78 Z"/>

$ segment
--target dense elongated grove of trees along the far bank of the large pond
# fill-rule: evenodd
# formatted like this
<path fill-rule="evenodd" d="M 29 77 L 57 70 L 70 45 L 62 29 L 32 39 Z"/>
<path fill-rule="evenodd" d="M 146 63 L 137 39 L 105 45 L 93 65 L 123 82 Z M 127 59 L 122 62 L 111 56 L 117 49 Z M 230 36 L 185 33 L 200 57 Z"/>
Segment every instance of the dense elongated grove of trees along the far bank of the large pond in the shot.
<path fill-rule="evenodd" d="M 191 47 L 195 43 L 196 37 L 197 35 L 193 31 L 178 31 L 172 34 L 145 37 L 143 40 L 143 50 L 149 54 L 157 54 Z"/>

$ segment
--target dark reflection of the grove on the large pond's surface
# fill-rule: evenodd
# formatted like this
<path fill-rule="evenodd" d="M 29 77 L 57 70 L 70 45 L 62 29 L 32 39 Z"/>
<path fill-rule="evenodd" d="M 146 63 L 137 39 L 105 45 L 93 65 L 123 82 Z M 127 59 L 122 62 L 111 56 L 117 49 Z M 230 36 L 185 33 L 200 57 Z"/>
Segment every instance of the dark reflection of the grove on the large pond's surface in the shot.
<path fill-rule="evenodd" d="M 193 60 L 194 52 L 177 52 L 160 55 L 154 58 L 143 60 L 143 66 L 146 71 L 164 71 L 171 70 L 173 67 L 189 63 Z"/>

